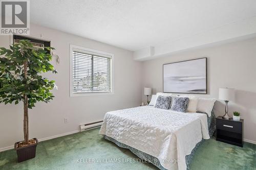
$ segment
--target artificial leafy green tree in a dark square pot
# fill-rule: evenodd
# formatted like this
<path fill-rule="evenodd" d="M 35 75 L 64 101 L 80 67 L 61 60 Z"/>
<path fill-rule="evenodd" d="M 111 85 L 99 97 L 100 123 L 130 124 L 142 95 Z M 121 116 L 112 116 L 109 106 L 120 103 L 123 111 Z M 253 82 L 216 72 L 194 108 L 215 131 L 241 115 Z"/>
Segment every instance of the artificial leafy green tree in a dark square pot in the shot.
<path fill-rule="evenodd" d="M 35 107 L 35 103 L 49 102 L 53 99 L 50 92 L 55 87 L 54 81 L 42 78 L 42 72 L 57 73 L 49 63 L 52 47 L 37 48 L 28 40 L 10 45 L 10 50 L 0 48 L 0 103 L 18 104 L 24 107 L 24 141 L 14 144 L 18 162 L 35 157 L 36 138 L 29 139 L 28 109 Z"/>

